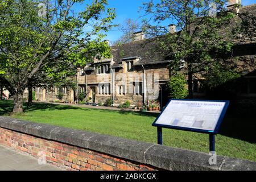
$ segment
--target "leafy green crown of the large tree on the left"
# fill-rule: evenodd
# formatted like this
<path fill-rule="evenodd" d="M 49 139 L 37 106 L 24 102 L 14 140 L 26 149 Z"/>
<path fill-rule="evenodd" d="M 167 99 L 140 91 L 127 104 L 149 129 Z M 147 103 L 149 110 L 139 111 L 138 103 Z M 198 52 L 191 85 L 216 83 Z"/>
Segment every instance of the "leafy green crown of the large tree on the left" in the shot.
<path fill-rule="evenodd" d="M 114 26 L 114 9 L 92 0 L 79 11 L 83 2 L 48 2 L 41 17 L 41 1 L 0 0 L 0 75 L 12 90 L 24 90 L 28 80 L 62 80 L 96 57 L 111 56 L 102 31 Z"/>

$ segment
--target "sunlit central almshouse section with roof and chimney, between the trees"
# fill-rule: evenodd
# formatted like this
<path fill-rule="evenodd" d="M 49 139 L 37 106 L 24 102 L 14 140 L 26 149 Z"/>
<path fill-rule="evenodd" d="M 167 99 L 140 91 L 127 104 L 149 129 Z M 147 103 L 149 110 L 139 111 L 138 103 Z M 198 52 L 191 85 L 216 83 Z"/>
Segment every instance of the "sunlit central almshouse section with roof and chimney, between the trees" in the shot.
<path fill-rule="evenodd" d="M 147 43 L 143 36 L 143 32 L 137 32 L 134 42 L 111 47 L 112 59 L 95 60 L 80 69 L 78 84 L 81 92 L 87 90 L 90 102 L 104 103 L 112 98 L 118 106 L 128 100 L 133 105 L 147 104 L 149 100 L 162 104 L 168 100 L 170 60 L 158 53 L 150 54 L 154 43 Z"/>

